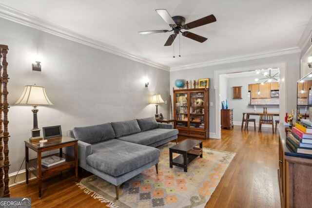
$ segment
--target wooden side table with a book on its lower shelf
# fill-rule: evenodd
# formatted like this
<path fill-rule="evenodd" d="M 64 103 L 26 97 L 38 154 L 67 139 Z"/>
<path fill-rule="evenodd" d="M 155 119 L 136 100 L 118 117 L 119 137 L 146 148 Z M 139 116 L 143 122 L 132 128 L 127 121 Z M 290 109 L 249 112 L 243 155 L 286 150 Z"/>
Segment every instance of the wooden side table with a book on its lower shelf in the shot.
<path fill-rule="evenodd" d="M 64 154 L 62 148 L 75 146 L 75 157 Z M 37 158 L 29 160 L 28 150 L 32 149 L 37 152 Z M 56 155 L 62 158 L 65 158 L 65 162 L 60 164 L 45 167 L 41 166 L 41 153 L 43 151 L 51 151 L 59 149 L 59 153 L 51 154 L 45 157 Z M 42 157 L 42 158 L 45 158 Z M 41 181 L 43 177 L 51 175 L 56 172 L 61 172 L 63 170 L 75 168 L 76 182 L 78 182 L 78 140 L 68 137 L 68 136 L 59 136 L 55 138 L 49 138 L 47 142 L 39 143 L 30 142 L 29 140 L 25 141 L 25 158 L 26 158 L 26 184 L 28 184 L 29 171 L 32 172 L 38 178 L 38 192 L 39 198 L 41 198 Z"/>

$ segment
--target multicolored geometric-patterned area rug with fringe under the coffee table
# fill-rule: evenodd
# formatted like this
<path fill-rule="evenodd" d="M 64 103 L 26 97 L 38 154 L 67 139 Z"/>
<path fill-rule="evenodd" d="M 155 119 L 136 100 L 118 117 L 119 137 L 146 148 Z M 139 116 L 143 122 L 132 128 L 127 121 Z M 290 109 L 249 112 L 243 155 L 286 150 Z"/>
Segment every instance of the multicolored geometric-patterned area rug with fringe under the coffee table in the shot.
<path fill-rule="evenodd" d="M 196 158 L 184 172 L 169 167 L 169 147 L 173 145 L 158 147 L 158 174 L 153 166 L 126 181 L 120 186 L 119 200 L 115 186 L 96 175 L 82 179 L 78 186 L 111 208 L 204 208 L 235 153 L 204 148 L 203 158 Z"/>

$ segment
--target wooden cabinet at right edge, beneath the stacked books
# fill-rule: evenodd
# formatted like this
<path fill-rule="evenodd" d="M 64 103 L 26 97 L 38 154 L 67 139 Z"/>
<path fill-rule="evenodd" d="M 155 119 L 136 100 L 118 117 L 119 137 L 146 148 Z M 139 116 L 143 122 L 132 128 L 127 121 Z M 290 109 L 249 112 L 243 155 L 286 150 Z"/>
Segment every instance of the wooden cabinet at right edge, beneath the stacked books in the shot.
<path fill-rule="evenodd" d="M 312 155 L 293 153 L 286 147 L 287 129 L 279 125 L 278 179 L 282 208 L 311 208 Z"/>

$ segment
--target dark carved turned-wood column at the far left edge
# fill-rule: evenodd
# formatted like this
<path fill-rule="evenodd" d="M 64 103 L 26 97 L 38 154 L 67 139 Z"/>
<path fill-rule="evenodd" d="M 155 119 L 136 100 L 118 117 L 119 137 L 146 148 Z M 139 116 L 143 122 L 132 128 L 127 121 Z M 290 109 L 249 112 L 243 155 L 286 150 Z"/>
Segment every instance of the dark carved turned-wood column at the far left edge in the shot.
<path fill-rule="evenodd" d="M 9 130 L 8 130 L 8 73 L 7 45 L 0 45 L 0 197 L 9 197 Z M 4 175 L 4 179 L 3 179 Z"/>

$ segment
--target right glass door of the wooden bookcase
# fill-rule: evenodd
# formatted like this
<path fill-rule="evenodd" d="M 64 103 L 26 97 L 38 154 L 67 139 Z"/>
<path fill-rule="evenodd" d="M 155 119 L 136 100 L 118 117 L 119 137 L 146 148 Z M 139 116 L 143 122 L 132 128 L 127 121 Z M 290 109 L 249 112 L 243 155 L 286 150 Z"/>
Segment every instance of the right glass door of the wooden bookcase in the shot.
<path fill-rule="evenodd" d="M 204 102 L 203 92 L 190 93 L 190 128 L 205 129 Z"/>

